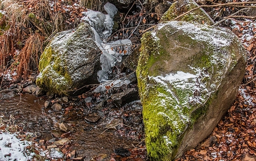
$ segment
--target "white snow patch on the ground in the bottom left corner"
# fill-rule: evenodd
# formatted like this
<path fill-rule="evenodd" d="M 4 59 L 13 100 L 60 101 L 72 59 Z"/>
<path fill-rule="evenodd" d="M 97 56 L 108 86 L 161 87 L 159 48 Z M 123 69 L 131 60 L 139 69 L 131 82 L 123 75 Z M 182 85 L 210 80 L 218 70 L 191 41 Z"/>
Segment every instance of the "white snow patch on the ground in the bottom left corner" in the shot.
<path fill-rule="evenodd" d="M 34 156 L 26 149 L 32 142 L 22 141 L 16 134 L 0 132 L 0 160 L 29 160 Z"/>

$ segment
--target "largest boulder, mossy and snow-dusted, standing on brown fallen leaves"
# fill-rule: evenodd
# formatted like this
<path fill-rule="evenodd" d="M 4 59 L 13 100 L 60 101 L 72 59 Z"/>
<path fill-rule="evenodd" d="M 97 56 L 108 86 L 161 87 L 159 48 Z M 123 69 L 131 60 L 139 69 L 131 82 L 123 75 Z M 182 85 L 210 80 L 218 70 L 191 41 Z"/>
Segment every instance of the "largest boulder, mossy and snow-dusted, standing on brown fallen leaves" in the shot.
<path fill-rule="evenodd" d="M 246 53 L 226 28 L 180 21 L 141 41 L 137 79 L 148 155 L 173 160 L 203 141 L 227 112 Z"/>

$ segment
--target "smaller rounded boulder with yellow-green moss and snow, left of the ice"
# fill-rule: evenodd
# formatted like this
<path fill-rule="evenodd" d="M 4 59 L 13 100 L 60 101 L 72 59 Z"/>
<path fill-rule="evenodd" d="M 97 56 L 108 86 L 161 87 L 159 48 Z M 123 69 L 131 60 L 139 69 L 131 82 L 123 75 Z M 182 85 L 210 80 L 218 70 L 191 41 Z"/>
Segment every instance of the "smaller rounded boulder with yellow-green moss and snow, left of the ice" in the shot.
<path fill-rule="evenodd" d="M 98 83 L 100 49 L 94 33 L 86 23 L 76 30 L 56 34 L 40 56 L 36 84 L 56 94 L 79 94 L 88 84 Z"/>

